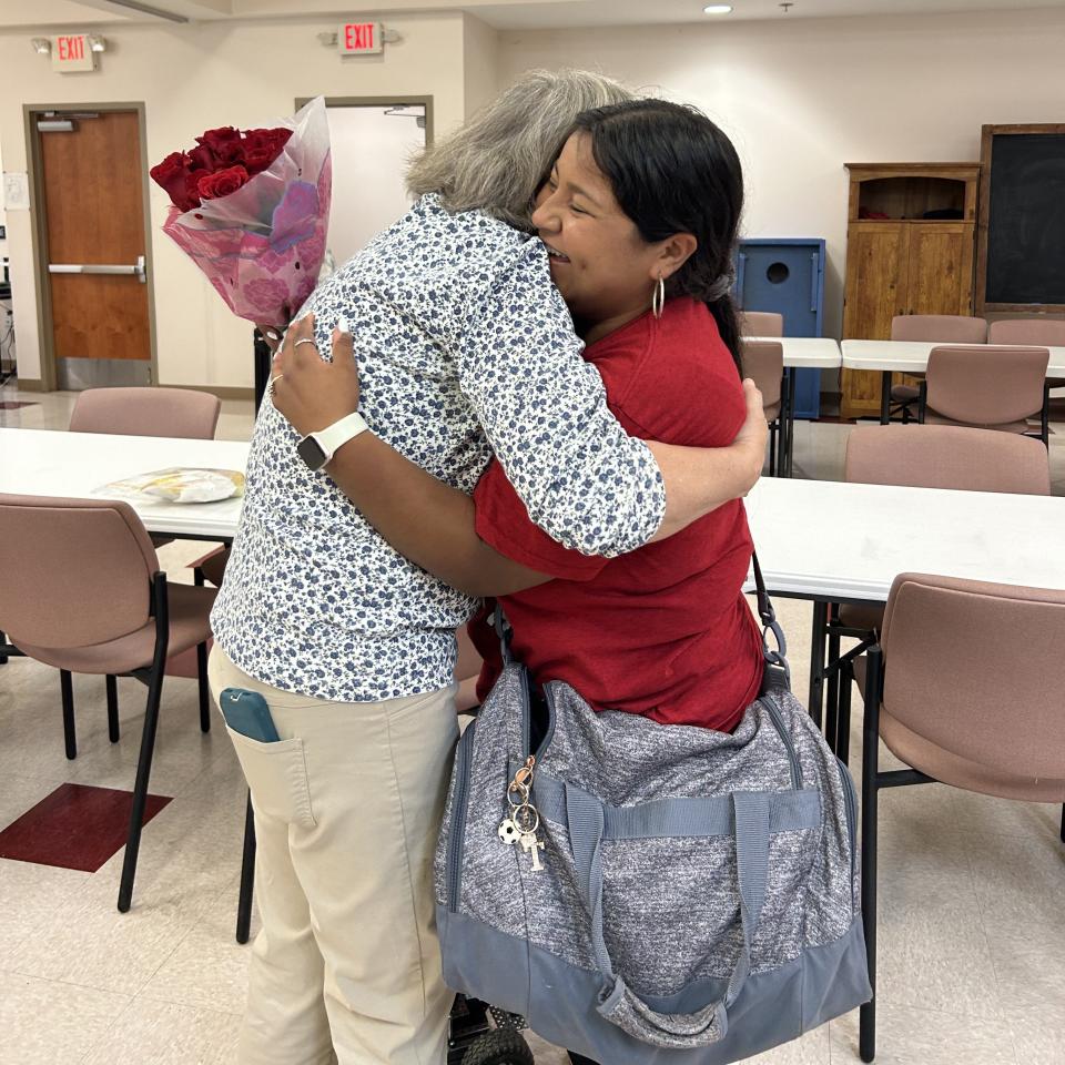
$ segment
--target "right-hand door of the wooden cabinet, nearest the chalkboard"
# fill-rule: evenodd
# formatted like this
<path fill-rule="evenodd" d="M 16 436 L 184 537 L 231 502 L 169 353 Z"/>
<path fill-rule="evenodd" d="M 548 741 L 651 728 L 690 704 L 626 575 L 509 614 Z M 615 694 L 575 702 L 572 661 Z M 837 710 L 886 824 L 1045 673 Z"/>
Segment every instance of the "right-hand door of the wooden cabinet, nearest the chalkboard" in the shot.
<path fill-rule="evenodd" d="M 907 314 L 971 314 L 974 227 L 911 222 Z"/>

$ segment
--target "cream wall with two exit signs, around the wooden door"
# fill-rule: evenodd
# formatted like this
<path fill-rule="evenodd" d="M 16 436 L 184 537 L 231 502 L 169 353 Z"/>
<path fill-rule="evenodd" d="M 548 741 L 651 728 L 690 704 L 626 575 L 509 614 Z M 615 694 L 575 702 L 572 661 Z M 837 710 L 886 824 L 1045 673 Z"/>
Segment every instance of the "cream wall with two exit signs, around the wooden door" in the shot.
<path fill-rule="evenodd" d="M 341 60 L 316 40 L 335 20 L 109 27 L 100 70 L 53 73 L 29 45 L 30 31 L 0 34 L 3 166 L 24 171 L 22 105 L 143 101 L 154 163 L 215 125 L 260 126 L 291 114 L 297 97 L 432 95 L 436 132 L 465 113 L 464 23 L 459 13 L 396 16 L 403 41 L 383 55 Z M 152 185 L 150 240 L 159 377 L 163 384 L 251 387 L 251 326 L 235 318 L 199 271 L 160 232 L 166 196 Z M 8 254 L 17 307 L 19 368 L 40 374 L 30 216 L 8 211 Z"/>

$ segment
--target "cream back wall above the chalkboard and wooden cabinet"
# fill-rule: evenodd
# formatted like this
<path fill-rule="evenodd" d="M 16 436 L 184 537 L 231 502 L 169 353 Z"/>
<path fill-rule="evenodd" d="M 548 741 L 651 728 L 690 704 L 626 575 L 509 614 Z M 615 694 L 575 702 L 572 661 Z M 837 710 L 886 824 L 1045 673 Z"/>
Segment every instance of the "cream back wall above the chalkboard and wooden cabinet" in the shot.
<path fill-rule="evenodd" d="M 694 103 L 733 139 L 747 236 L 823 236 L 839 336 L 849 162 L 980 159 L 983 123 L 1065 122 L 1065 11 L 500 34 L 500 84 L 596 67 Z"/>

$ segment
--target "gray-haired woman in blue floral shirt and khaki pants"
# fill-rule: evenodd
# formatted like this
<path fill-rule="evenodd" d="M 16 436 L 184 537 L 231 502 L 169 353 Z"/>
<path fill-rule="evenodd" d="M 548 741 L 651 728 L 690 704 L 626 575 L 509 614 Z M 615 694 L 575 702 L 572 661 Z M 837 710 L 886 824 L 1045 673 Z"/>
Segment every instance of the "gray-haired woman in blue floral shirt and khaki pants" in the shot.
<path fill-rule="evenodd" d="M 626 97 L 595 74 L 534 72 L 427 153 L 416 205 L 304 308 L 322 351 L 355 326 L 359 414 L 301 438 L 272 402 L 260 410 L 210 667 L 216 698 L 260 693 L 276 732 L 230 730 L 263 922 L 242 1065 L 446 1054 L 432 855 L 457 737 L 454 631 L 477 601 L 382 539 L 324 473 L 333 454 L 368 425 L 466 493 L 495 454 L 534 520 L 589 555 L 668 536 L 758 477 L 760 404 L 733 448 L 626 434 L 530 237 L 576 115 Z"/>

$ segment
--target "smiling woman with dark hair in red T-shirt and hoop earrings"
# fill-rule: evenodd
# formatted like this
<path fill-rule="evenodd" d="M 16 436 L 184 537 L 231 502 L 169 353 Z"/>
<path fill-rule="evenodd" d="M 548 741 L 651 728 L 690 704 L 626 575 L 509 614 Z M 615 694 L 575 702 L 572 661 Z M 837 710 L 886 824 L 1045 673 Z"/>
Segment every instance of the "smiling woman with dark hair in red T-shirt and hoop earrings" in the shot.
<path fill-rule="evenodd" d="M 720 447 L 744 418 L 729 295 L 743 201 L 728 138 L 691 108 L 639 100 L 582 113 L 532 221 L 551 277 L 635 436 Z M 293 338 L 295 339 L 295 338 Z M 349 342 L 334 335 L 342 355 Z M 287 347 L 280 409 L 310 430 L 357 406 L 351 357 Z M 520 373 L 520 367 L 515 367 Z M 588 557 L 542 532 L 497 463 L 473 500 L 373 438 L 331 476 L 413 561 L 471 595 L 499 597 L 513 648 L 538 680 L 591 706 L 665 724 L 731 730 L 758 694 L 758 626 L 741 587 L 751 538 L 741 500 L 620 558 Z M 497 662 L 490 628 L 470 632 Z"/>

